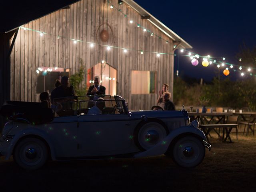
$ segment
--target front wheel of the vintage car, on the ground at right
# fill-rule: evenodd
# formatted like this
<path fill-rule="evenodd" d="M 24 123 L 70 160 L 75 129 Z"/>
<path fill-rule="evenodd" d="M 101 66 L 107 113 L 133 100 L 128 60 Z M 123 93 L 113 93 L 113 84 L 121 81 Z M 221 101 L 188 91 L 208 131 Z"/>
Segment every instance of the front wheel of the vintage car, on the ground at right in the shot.
<path fill-rule="evenodd" d="M 198 166 L 205 155 L 202 141 L 195 136 L 184 136 L 172 146 L 172 158 L 176 164 L 186 168 Z"/>

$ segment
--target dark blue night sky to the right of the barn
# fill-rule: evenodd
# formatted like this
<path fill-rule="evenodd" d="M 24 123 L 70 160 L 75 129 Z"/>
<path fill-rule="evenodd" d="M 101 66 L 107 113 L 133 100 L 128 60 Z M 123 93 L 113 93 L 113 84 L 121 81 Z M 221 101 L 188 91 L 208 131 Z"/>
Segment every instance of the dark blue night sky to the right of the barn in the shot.
<path fill-rule="evenodd" d="M 191 51 L 199 55 L 225 57 L 226 62 L 239 64 L 234 56 L 239 52 L 240 45 L 245 42 L 250 48 L 256 46 L 256 1 L 135 0 L 135 2 L 188 42 L 193 47 Z M 178 50 L 175 53 L 178 54 Z M 177 58 L 176 56 L 174 62 L 175 75 Z M 220 58 L 216 60 L 221 61 Z M 225 78 L 223 70 L 222 67 L 221 78 Z M 190 63 L 190 58 L 180 56 L 179 73 L 210 81 L 218 74 L 218 68 L 216 65 L 203 67 L 202 58 L 199 59 L 198 66 L 194 67 Z M 232 80 L 244 78 L 233 70 L 230 70 L 229 76 Z"/>

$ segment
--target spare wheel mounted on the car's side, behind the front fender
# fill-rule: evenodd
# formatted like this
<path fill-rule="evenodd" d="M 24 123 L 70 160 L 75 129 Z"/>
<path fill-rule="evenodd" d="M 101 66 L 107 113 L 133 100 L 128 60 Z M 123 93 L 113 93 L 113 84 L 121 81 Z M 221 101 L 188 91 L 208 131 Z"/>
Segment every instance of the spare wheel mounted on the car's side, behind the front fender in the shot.
<path fill-rule="evenodd" d="M 157 122 L 148 122 L 135 130 L 135 143 L 144 151 L 152 148 L 167 136 L 167 130 Z"/>

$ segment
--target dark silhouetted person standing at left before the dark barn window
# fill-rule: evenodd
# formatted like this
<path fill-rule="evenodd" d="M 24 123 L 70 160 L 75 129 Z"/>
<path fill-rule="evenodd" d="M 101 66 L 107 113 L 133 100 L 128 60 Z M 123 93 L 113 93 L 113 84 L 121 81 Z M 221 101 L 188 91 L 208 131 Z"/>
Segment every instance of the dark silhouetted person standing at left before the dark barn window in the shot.
<path fill-rule="evenodd" d="M 69 79 L 67 76 L 63 76 L 60 81 L 60 86 L 56 87 L 54 90 L 52 90 L 51 93 L 51 102 L 54 104 L 54 99 L 56 98 L 63 98 L 63 97 L 71 97 L 74 96 L 74 89 L 73 86 L 68 86 Z M 64 102 L 65 99 L 62 99 L 61 101 L 58 100 L 58 102 Z"/>

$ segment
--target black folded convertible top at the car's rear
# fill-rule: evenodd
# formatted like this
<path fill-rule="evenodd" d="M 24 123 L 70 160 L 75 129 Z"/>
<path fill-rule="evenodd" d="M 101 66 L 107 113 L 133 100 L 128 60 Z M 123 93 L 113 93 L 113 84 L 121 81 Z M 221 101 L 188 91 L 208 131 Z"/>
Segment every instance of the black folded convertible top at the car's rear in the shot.
<path fill-rule="evenodd" d="M 38 102 L 6 101 L 0 109 L 0 115 L 8 119 L 22 118 L 32 124 L 50 122 L 54 112 L 50 108 L 43 108 Z"/>

